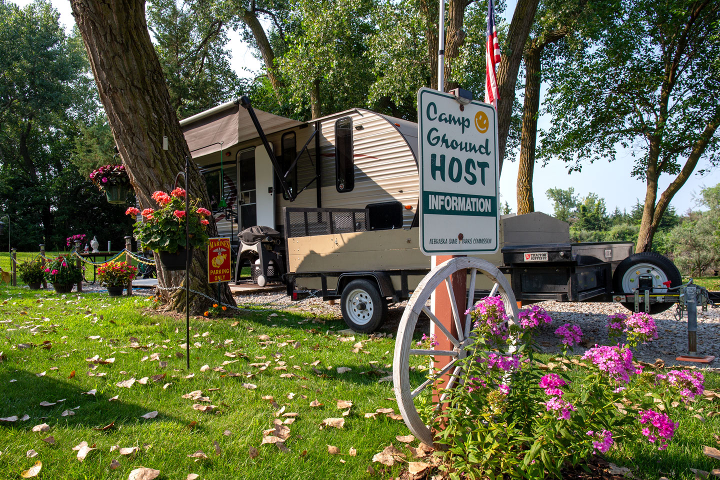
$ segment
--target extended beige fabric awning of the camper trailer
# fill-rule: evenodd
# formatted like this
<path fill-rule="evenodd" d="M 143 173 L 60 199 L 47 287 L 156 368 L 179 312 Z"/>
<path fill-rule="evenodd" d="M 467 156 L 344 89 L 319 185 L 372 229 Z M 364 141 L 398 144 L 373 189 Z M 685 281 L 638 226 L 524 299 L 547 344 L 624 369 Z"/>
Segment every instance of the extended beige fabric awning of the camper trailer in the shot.
<path fill-rule="evenodd" d="M 303 123 L 262 110 L 256 109 L 255 113 L 268 135 Z M 192 158 L 219 152 L 221 149 L 228 150 L 233 145 L 258 137 L 248 111 L 241 109 L 235 101 L 228 101 L 181 120 L 180 126 Z M 220 142 L 222 145 L 218 145 Z"/>

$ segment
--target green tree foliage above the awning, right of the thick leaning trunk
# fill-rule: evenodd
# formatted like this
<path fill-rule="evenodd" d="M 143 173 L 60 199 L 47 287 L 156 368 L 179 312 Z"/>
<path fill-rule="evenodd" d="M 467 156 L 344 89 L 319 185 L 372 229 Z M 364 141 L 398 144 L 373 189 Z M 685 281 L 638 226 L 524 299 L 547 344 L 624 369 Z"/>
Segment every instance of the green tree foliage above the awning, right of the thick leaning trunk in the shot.
<path fill-rule="evenodd" d="M 230 68 L 227 34 L 233 14 L 228 10 L 222 1 L 148 3 L 148 28 L 180 119 L 215 107 L 243 90 Z"/>

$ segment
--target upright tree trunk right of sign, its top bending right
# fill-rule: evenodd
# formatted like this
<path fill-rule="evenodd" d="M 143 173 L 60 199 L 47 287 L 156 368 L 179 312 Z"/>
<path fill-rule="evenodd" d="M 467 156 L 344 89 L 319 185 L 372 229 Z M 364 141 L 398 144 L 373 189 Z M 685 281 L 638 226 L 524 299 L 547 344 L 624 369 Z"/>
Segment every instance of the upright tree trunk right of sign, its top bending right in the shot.
<path fill-rule="evenodd" d="M 518 166 L 518 215 L 535 212 L 533 174 L 535 172 L 535 146 L 540 110 L 541 60 L 545 47 L 567 35 L 567 29 L 553 30 L 530 43 L 525 55 L 525 100 L 523 104 L 523 130 L 520 140 Z"/>

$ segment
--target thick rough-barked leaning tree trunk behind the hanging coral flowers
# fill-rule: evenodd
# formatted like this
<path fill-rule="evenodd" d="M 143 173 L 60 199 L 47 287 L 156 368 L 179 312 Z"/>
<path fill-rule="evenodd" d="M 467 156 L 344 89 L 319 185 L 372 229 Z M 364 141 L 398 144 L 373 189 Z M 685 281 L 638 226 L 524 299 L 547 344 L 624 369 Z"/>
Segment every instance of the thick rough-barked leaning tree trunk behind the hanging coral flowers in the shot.
<path fill-rule="evenodd" d="M 170 101 L 163 71 L 150 42 L 144 0 L 71 0 L 90 60 L 100 100 L 105 108 L 120 158 L 140 201 L 140 208 L 157 207 L 153 191 L 169 191 L 178 171 L 184 170 L 190 153 Z M 163 136 L 168 150 L 163 150 Z M 190 163 L 189 193 L 202 205 L 210 205 L 204 178 Z M 215 223 L 208 226 L 217 235 Z M 180 286 L 183 273 L 164 271 L 158 262 L 161 288 Z M 215 297 L 207 283 L 207 252 L 195 251 L 190 266 L 190 288 Z M 184 310 L 184 289 L 163 291 L 176 310 Z M 235 304 L 230 288 L 222 284 L 221 300 Z M 212 303 L 190 295 L 190 308 L 202 312 Z"/>

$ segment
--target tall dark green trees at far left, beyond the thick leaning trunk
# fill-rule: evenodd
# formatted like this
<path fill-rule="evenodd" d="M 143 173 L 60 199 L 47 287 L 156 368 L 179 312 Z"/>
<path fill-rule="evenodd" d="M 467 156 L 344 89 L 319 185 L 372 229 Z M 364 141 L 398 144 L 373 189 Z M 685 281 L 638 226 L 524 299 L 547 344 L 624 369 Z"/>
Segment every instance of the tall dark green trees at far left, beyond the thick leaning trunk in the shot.
<path fill-rule="evenodd" d="M 122 207 L 71 161 L 85 119 L 98 114 L 88 74 L 81 42 L 66 36 L 48 1 L 20 9 L 0 0 L 0 208 L 14 247 L 62 249 L 74 233 L 120 246 L 129 231 Z"/>

